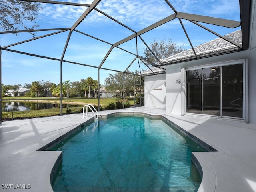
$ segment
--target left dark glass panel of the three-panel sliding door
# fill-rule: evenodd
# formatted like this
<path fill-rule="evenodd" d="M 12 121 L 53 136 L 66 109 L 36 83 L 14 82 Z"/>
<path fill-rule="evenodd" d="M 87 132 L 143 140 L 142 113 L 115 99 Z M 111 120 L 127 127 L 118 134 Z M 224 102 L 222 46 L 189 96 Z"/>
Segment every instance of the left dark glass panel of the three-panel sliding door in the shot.
<path fill-rule="evenodd" d="M 202 70 L 186 71 L 187 113 L 202 114 Z"/>

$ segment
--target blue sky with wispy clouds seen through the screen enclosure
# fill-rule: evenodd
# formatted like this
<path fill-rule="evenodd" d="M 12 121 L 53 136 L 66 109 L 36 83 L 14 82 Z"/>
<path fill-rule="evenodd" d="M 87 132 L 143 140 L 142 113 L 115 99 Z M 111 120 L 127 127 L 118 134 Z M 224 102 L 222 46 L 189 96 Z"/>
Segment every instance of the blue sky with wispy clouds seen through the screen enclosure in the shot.
<path fill-rule="evenodd" d="M 92 3 L 92 0 L 62 1 L 82 4 Z M 169 0 L 169 2 L 178 12 L 240 21 L 239 0 Z M 38 12 L 38 18 L 36 20 L 36 24 L 39 24 L 37 29 L 70 28 L 87 7 L 44 3 L 42 4 L 42 8 L 42 11 Z M 136 32 L 174 14 L 174 11 L 164 0 L 102 0 L 96 8 Z M 182 23 L 190 36 L 193 46 L 198 46 L 218 38 L 218 36 L 192 24 L 192 22 L 188 20 L 182 20 Z M 31 22 L 27 22 L 26 24 L 31 25 Z M 225 35 L 240 29 L 230 29 L 210 24 L 204 24 L 204 26 L 214 30 L 220 35 Z M 64 60 L 94 67 L 70 64 L 68 62 L 62 62 L 62 66 L 60 66 L 60 61 L 2 50 L 2 84 L 21 84 L 23 86 L 25 83 L 31 84 L 33 81 L 41 80 L 58 84 L 60 82 L 61 68 L 62 82 L 66 80 L 70 82 L 80 81 L 88 77 L 98 80 L 98 66 L 110 49 L 110 44 L 114 44 L 134 34 L 133 31 L 121 26 L 96 10 L 92 10 L 76 30 L 94 36 L 104 42 L 73 31 L 68 42 Z M 40 37 L 59 31 L 60 30 L 36 32 L 36 36 Z M 68 33 L 68 31 L 60 32 L 8 48 L 60 59 L 64 51 Z M 191 48 L 178 19 L 150 30 L 142 34 L 141 37 L 148 45 L 150 45 L 154 39 L 171 39 L 172 42 L 176 42 L 178 46 L 182 45 L 186 49 Z M 0 34 L 0 45 L 4 47 L 32 38 L 33 37 L 28 33 L 18 33 L 18 35 Z M 136 48 L 136 44 L 138 49 Z M 140 38 L 137 38 L 137 41 L 136 38 L 129 40 L 119 47 L 133 54 L 137 54 L 138 52 L 140 56 L 144 55 L 143 51 L 146 49 L 144 42 L 142 42 Z M 102 68 L 118 71 L 126 70 L 135 56 L 122 49 L 114 48 L 102 65 Z M 142 64 L 139 66 L 137 60 L 132 63 L 129 68 L 130 71 L 146 69 L 146 66 Z M 113 74 L 115 72 L 100 69 L 100 84 L 104 84 L 105 78 L 108 77 L 110 73 Z"/>

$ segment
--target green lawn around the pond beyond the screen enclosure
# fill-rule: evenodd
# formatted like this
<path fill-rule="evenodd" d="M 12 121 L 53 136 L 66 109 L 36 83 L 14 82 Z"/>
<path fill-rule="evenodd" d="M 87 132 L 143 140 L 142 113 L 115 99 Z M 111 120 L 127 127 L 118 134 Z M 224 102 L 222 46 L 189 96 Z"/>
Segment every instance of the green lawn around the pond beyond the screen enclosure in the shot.
<path fill-rule="evenodd" d="M 22 102 L 31 102 L 30 100 L 35 100 L 34 102 L 60 102 L 60 99 L 52 99 L 47 97 L 3 97 L 4 100 L 26 100 Z M 133 99 L 133 98 L 130 98 Z M 100 105 L 106 106 L 109 103 L 120 101 L 122 98 L 100 98 Z M 78 104 L 80 106 L 70 107 L 71 113 L 80 113 L 82 106 L 84 104 L 93 104 L 98 106 L 98 98 L 63 98 L 63 103 L 68 102 L 69 104 Z M 131 104 L 133 100 L 130 100 Z M 98 108 L 96 108 L 98 110 Z M 62 108 L 62 114 L 66 114 L 66 108 Z M 21 118 L 36 118 L 36 117 L 45 117 L 45 116 L 56 116 L 60 115 L 60 108 L 52 108 L 52 109 L 41 109 L 41 110 L 28 110 L 28 111 L 14 111 L 12 112 L 2 112 L 2 120 L 12 120 L 12 119 L 21 119 Z"/>

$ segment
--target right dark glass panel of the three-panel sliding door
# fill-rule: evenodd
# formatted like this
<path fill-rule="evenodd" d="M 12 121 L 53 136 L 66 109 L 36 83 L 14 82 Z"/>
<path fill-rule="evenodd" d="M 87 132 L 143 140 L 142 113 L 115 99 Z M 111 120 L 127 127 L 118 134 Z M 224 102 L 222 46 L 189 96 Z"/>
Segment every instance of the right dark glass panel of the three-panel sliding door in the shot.
<path fill-rule="evenodd" d="M 222 116 L 243 117 L 243 64 L 222 66 Z"/>

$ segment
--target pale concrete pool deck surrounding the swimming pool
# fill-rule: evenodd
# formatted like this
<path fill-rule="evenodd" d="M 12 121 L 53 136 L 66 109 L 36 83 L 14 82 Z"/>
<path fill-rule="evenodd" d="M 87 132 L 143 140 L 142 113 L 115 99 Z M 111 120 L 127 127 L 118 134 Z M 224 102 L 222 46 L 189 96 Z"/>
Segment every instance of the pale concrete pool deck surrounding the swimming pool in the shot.
<path fill-rule="evenodd" d="M 256 192 L 256 124 L 170 115 L 146 107 L 102 111 L 99 116 L 113 112 L 162 115 L 218 150 L 194 152 L 203 172 L 199 192 Z M 0 191 L 53 191 L 50 174 L 61 152 L 38 149 L 92 118 L 90 113 L 85 118 L 69 114 L 2 122 Z"/>

